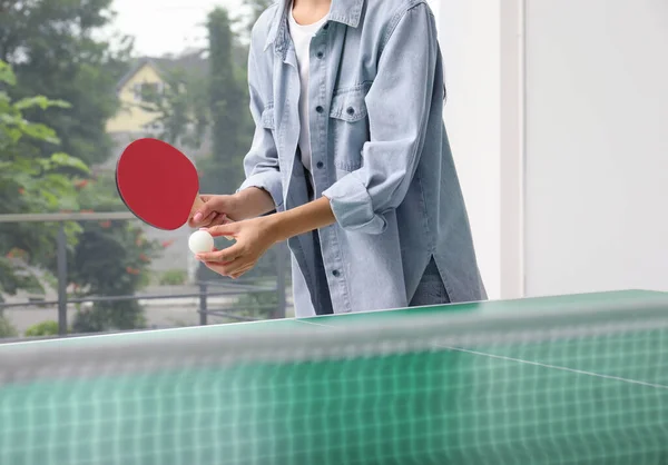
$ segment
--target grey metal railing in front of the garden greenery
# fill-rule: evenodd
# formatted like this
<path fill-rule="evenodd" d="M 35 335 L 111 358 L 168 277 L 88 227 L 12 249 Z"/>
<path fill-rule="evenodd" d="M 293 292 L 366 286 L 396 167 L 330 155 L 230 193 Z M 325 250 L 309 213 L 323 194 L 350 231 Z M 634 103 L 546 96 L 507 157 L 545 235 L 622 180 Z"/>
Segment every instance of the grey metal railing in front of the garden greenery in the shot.
<path fill-rule="evenodd" d="M 67 293 L 68 269 L 67 269 L 67 236 L 65 224 L 68 221 L 106 221 L 106 220 L 137 220 L 130 212 L 68 212 L 68 214 L 18 214 L 0 215 L 0 224 L 9 222 L 57 222 L 60 225 L 56 240 L 56 260 L 57 260 L 57 295 L 56 300 L 26 300 L 19 303 L 0 303 L 0 315 L 4 309 L 26 308 L 26 307 L 58 307 L 58 335 L 68 336 L 68 306 L 72 304 L 95 304 L 102 301 L 124 301 L 124 300 L 151 300 L 151 299 L 191 299 L 198 298 L 197 313 L 199 314 L 199 325 L 208 324 L 208 316 L 225 317 L 234 320 L 253 320 L 235 313 L 245 309 L 212 309 L 212 297 L 229 297 L 258 293 L 276 293 L 277 303 L 267 308 L 271 311 L 271 318 L 285 318 L 287 307 L 287 249 L 281 244 L 275 246 L 276 254 L 276 283 L 274 286 L 259 286 L 255 284 L 240 283 L 197 283 L 198 293 L 187 294 L 150 294 L 131 296 L 88 296 L 82 298 L 70 298 Z M 215 288 L 223 290 L 215 290 Z M 257 307 L 256 307 L 257 308 Z"/>

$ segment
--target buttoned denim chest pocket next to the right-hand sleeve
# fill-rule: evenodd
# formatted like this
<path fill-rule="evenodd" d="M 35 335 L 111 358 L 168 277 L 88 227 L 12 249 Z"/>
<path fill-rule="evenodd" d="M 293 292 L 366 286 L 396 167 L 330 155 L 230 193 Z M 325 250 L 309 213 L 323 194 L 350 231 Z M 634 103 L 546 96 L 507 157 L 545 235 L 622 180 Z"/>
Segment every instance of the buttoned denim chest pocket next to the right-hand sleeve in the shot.
<path fill-rule="evenodd" d="M 337 89 L 330 110 L 330 142 L 334 165 L 344 171 L 362 167 L 362 149 L 369 140 L 366 93 L 371 82 Z"/>

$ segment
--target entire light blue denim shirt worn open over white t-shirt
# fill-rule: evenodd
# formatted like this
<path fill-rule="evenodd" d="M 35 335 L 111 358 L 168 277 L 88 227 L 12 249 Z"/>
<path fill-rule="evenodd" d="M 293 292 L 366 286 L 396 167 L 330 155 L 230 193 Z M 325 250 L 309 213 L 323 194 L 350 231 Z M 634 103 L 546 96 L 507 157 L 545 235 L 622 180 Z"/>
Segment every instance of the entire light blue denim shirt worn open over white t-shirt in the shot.
<path fill-rule="evenodd" d="M 276 210 L 330 199 L 320 248 L 334 313 L 406 307 L 433 257 L 451 301 L 487 298 L 443 123 L 443 68 L 424 0 L 333 0 L 313 37 L 312 182 L 299 139 L 299 75 L 289 0 L 258 19 L 248 59 L 256 123 L 246 181 Z M 313 191 L 312 191 L 313 190 Z M 288 240 L 295 315 L 314 315 L 317 241 Z"/>

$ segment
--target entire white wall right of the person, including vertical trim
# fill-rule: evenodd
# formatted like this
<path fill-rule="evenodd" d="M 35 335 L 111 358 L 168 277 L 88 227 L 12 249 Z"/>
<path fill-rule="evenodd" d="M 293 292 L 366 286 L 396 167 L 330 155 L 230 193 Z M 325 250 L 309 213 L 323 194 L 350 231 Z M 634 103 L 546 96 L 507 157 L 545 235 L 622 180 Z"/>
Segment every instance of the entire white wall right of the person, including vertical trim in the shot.
<path fill-rule="evenodd" d="M 668 1 L 430 3 L 490 297 L 668 290 Z"/>

